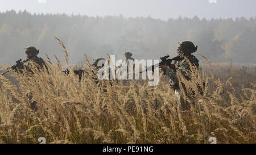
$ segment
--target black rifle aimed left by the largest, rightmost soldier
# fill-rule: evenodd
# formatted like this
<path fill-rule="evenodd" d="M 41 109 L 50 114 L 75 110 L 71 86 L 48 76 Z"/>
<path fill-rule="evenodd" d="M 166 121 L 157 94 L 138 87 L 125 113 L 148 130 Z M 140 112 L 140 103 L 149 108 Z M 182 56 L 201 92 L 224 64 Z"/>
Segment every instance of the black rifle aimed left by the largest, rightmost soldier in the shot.
<path fill-rule="evenodd" d="M 172 61 L 180 61 L 183 59 L 183 57 L 181 56 L 176 56 L 174 58 L 169 58 L 170 56 L 164 56 L 164 57 L 160 57 L 161 62 L 159 62 L 159 64 L 156 65 L 167 65 L 167 66 L 171 66 Z M 152 65 L 152 66 L 148 66 L 148 68 L 146 68 L 146 70 L 143 70 L 142 72 L 139 73 L 143 73 L 143 72 L 147 72 L 147 71 L 152 71 L 155 72 L 155 66 L 156 65 Z M 164 74 L 166 74 L 166 72 L 164 72 Z"/>

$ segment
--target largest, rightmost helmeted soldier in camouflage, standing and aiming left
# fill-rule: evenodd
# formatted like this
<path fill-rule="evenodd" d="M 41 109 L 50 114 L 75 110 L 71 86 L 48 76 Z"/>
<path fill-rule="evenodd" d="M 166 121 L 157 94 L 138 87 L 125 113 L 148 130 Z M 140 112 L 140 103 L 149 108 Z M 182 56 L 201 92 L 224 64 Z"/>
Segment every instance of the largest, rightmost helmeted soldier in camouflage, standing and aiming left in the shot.
<path fill-rule="evenodd" d="M 197 46 L 195 47 L 191 41 L 180 41 L 177 44 L 177 53 L 182 57 L 181 60 L 176 61 L 175 64 L 172 64 L 171 66 L 159 65 L 159 68 L 166 72 L 168 77 L 170 77 L 170 86 L 175 90 L 181 110 L 189 110 L 189 104 L 185 102 L 181 96 L 179 81 L 176 73 L 179 72 L 183 74 L 187 80 L 190 80 L 190 77 L 186 74 L 187 71 L 191 70 L 189 62 L 191 62 L 193 66 L 196 66 L 196 68 L 199 68 L 199 60 L 192 55 L 192 53 L 196 51 Z"/>

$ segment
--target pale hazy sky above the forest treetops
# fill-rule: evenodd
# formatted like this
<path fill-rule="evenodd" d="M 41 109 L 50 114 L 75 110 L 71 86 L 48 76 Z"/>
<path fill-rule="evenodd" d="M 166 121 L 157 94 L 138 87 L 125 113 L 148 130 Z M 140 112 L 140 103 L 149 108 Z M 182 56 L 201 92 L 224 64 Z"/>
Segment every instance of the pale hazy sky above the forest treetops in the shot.
<path fill-rule="evenodd" d="M 0 11 L 27 10 L 88 16 L 119 15 L 168 19 L 197 15 L 199 18 L 256 16 L 255 0 L 0 0 Z"/>

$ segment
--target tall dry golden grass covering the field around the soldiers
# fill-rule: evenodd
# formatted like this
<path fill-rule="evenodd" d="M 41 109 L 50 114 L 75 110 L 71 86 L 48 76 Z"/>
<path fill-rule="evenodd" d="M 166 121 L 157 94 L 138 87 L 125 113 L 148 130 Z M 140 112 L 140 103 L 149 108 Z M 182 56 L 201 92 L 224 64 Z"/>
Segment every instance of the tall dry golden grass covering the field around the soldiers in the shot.
<path fill-rule="evenodd" d="M 256 143 L 255 68 L 224 68 L 229 74 L 213 65 L 212 73 L 193 70 L 195 82 L 181 76 L 193 93 L 186 98 L 191 111 L 180 111 L 163 75 L 155 87 L 139 81 L 97 86 L 88 61 L 81 82 L 63 74 L 57 58 L 56 64 L 48 59 L 48 66 L 50 74 L 13 73 L 19 85 L 0 76 L 1 143 L 38 143 L 39 137 L 47 143 L 209 143 L 209 137 L 217 143 Z M 195 83 L 204 81 L 208 86 L 200 94 Z"/>

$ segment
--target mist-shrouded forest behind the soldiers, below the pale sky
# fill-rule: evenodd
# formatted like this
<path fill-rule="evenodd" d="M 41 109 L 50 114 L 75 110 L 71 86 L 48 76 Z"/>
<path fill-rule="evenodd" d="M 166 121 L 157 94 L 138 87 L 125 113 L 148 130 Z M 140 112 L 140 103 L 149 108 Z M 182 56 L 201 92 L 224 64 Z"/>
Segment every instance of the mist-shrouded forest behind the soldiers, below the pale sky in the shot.
<path fill-rule="evenodd" d="M 255 64 L 256 18 L 160 20 L 150 16 L 125 18 L 119 16 L 31 14 L 14 10 L 0 13 L 0 64 L 13 64 L 26 58 L 23 49 L 33 45 L 45 53 L 63 59 L 55 37 L 68 49 L 71 62 L 81 63 L 84 53 L 95 57 L 125 52 L 138 59 L 176 56 L 176 45 L 191 40 L 199 48 L 196 53 L 212 62 Z"/>

